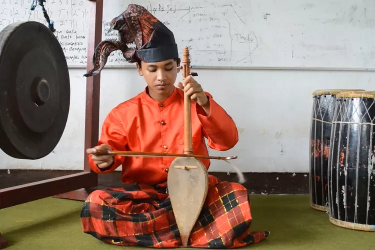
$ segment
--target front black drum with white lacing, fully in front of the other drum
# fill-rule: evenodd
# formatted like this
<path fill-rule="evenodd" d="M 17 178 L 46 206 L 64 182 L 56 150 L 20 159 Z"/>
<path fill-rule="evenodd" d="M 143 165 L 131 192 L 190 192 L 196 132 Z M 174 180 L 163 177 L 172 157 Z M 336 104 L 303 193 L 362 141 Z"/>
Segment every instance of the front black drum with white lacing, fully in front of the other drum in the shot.
<path fill-rule="evenodd" d="M 375 231 L 375 91 L 336 95 L 328 164 L 329 220 Z"/>

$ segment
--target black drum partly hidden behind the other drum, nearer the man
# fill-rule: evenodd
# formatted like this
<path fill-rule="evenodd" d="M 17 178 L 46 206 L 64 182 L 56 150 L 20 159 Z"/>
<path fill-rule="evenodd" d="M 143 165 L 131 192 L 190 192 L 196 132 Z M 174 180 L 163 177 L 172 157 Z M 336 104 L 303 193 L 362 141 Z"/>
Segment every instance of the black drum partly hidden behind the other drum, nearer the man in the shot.
<path fill-rule="evenodd" d="M 312 93 L 310 126 L 310 206 L 325 211 L 328 203 L 327 167 L 335 95 L 357 89 L 322 89 Z M 362 90 L 362 89 L 359 89 Z"/>

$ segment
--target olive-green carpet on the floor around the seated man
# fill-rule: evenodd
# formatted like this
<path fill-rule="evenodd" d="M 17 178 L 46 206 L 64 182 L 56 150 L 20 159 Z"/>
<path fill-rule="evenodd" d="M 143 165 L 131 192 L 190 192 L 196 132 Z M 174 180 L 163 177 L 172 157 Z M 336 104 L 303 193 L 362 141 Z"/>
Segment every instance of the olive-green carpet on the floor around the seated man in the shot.
<path fill-rule="evenodd" d="M 264 241 L 245 248 L 374 249 L 375 232 L 335 226 L 328 221 L 325 212 L 310 208 L 308 202 L 307 195 L 252 195 L 251 229 L 269 230 L 270 235 Z M 84 234 L 79 220 L 81 205 L 80 201 L 45 198 L 1 209 L 0 232 L 9 242 L 5 249 L 124 248 L 102 243 Z"/>

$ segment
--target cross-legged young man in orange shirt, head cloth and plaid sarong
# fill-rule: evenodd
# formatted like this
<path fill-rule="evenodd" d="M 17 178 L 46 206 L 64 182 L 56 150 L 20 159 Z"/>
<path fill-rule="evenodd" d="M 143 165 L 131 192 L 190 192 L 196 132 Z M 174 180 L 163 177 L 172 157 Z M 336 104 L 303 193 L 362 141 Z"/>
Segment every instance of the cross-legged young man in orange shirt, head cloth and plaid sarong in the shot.
<path fill-rule="evenodd" d="M 143 152 L 183 152 L 183 94 L 191 98 L 192 142 L 195 154 L 208 155 L 232 148 L 238 133 L 232 118 L 204 92 L 192 77 L 176 80 L 180 60 L 173 33 L 145 8 L 130 4 L 112 20 L 120 41 L 103 41 L 94 54 L 98 73 L 107 56 L 121 49 L 137 63 L 147 86 L 135 97 L 114 107 L 105 118 L 97 146 L 87 149 L 90 167 L 108 173 L 122 166 L 123 188 L 92 192 L 81 211 L 83 231 L 104 242 L 122 246 L 170 248 L 181 246 L 179 232 L 166 192 L 167 169 L 172 157 L 96 156 L 96 149 Z M 136 49 L 125 43 L 135 42 Z M 210 161 L 201 159 L 208 168 Z M 209 190 L 188 246 L 235 248 L 259 242 L 267 231 L 249 232 L 251 223 L 247 190 L 238 183 L 209 176 Z"/>

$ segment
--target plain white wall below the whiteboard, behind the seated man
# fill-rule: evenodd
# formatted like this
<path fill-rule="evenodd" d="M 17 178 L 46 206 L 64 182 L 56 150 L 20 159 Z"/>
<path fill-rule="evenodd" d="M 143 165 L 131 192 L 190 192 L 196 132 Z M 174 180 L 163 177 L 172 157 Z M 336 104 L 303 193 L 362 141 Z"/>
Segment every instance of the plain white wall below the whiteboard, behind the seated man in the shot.
<path fill-rule="evenodd" d="M 369 71 L 196 70 L 195 77 L 233 117 L 239 142 L 222 155 L 246 172 L 307 172 L 312 95 L 322 88 L 375 90 Z M 0 151 L 0 169 L 83 170 L 85 69 L 70 69 L 71 109 L 54 152 L 39 160 L 19 160 Z M 178 80 L 180 80 L 179 75 Z M 100 124 L 108 111 L 145 87 L 135 69 L 101 73 Z M 211 150 L 211 155 L 220 155 Z M 118 168 L 119 170 L 120 168 Z M 232 171 L 212 160 L 210 171 Z"/>

